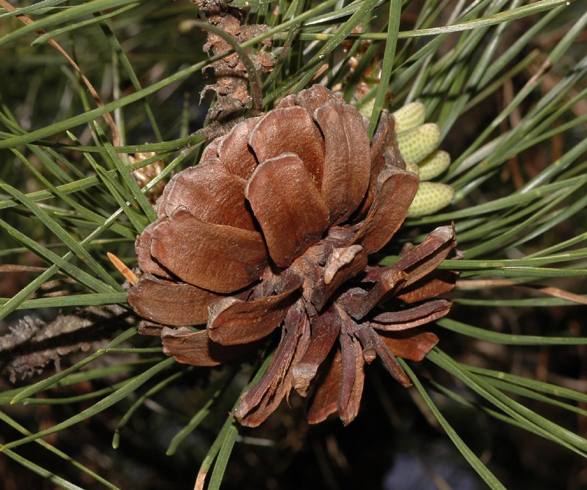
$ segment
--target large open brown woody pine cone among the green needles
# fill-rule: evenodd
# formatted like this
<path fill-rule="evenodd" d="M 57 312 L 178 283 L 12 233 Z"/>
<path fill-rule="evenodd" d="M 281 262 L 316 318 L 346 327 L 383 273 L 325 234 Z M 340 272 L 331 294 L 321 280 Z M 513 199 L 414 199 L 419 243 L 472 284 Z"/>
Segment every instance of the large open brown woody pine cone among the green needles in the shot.
<path fill-rule="evenodd" d="M 369 265 L 405 219 L 418 177 L 405 169 L 390 114 L 372 144 L 363 124 L 322 86 L 285 97 L 174 176 L 137 238 L 143 274 L 129 303 L 150 321 L 141 333 L 161 335 L 179 362 L 230 361 L 282 327 L 265 375 L 235 411 L 245 426 L 292 388 L 313 389 L 311 423 L 338 411 L 348 424 L 365 362 L 379 356 L 409 386 L 394 356 L 421 360 L 438 342 L 411 328 L 450 309 L 430 298 L 453 287 L 456 274 L 436 267 L 456 245 L 454 229 L 437 228 L 393 266 Z"/>

